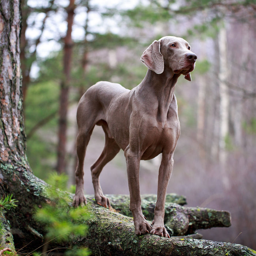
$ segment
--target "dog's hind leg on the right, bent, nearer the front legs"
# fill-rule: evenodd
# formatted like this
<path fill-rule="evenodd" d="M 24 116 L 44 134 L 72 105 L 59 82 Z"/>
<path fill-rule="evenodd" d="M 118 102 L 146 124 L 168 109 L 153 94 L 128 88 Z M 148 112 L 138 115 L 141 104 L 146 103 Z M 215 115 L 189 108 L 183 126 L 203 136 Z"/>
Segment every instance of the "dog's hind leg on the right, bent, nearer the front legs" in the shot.
<path fill-rule="evenodd" d="M 108 124 L 105 121 L 100 121 L 99 125 L 102 125 L 103 131 L 105 132 L 105 146 L 97 161 L 91 166 L 91 177 L 93 180 L 96 202 L 104 207 L 110 207 L 109 199 L 104 196 L 102 192 L 101 185 L 99 183 L 99 174 L 103 167 L 120 151 L 120 147 L 113 138 L 110 138 Z"/>

